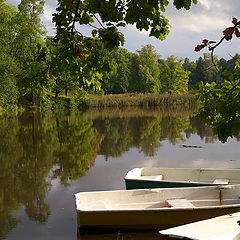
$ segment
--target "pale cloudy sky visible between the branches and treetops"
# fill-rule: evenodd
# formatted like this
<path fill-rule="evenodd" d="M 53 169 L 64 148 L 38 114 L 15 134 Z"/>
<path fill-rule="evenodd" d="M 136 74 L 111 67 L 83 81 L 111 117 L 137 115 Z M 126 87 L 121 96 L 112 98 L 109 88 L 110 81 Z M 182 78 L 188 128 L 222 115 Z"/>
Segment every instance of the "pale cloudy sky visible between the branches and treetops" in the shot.
<path fill-rule="evenodd" d="M 18 5 L 20 0 L 7 0 L 8 3 Z M 222 31 L 232 26 L 232 17 L 240 19 L 239 0 L 199 0 L 197 5 L 192 5 L 190 10 L 177 10 L 170 1 L 166 9 L 165 16 L 169 19 L 170 34 L 166 40 L 161 41 L 154 37 L 149 37 L 148 32 L 139 31 L 130 25 L 120 29 L 125 35 L 124 48 L 128 51 L 136 52 L 142 46 L 152 44 L 162 58 L 174 55 L 181 58 L 188 57 L 194 61 L 203 53 L 195 52 L 194 48 L 203 39 L 219 41 L 222 38 Z M 52 23 L 52 13 L 57 6 L 57 0 L 46 0 L 42 21 L 47 27 L 48 34 L 54 34 L 54 24 Z M 240 38 L 224 41 L 215 51 L 219 58 L 230 59 L 236 53 L 240 53 Z"/>

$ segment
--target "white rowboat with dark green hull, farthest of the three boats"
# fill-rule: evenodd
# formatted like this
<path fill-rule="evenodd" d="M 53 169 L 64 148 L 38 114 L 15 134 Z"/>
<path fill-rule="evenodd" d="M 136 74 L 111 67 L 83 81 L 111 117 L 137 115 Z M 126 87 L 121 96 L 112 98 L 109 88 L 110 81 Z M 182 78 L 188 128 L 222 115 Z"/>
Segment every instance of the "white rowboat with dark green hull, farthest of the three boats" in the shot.
<path fill-rule="evenodd" d="M 124 179 L 127 189 L 240 184 L 240 169 L 134 168 Z"/>

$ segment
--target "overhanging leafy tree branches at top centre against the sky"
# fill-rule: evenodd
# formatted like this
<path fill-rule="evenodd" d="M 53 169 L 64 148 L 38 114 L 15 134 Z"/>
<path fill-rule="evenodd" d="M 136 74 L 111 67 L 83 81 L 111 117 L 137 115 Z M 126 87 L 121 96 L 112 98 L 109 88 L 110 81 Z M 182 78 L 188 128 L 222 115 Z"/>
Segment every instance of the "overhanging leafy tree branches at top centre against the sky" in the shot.
<path fill-rule="evenodd" d="M 192 3 L 197 3 L 197 0 L 173 2 L 177 9 L 189 9 Z M 57 13 L 53 18 L 57 27 L 55 41 L 66 46 L 61 51 L 66 61 L 74 62 L 78 57 L 84 66 L 84 62 L 93 61 L 93 49 L 114 49 L 123 45 L 124 36 L 118 28 L 127 24 L 149 31 L 150 36 L 165 39 L 170 25 L 163 12 L 168 4 L 168 0 L 58 0 Z M 90 26 L 93 29 L 91 35 L 85 36 L 78 25 Z M 97 71 L 93 67 L 91 69 Z M 144 67 L 143 72 L 147 74 Z M 89 82 L 92 80 L 94 83 L 94 79 L 87 79 Z"/>

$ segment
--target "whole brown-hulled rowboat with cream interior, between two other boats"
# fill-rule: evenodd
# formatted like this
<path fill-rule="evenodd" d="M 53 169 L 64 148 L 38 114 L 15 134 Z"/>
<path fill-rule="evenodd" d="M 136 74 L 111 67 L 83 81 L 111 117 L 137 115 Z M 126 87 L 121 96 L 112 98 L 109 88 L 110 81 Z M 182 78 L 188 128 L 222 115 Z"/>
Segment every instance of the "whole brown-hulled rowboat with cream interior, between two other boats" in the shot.
<path fill-rule="evenodd" d="M 80 228 L 161 230 L 240 211 L 240 186 L 80 192 L 75 200 Z"/>

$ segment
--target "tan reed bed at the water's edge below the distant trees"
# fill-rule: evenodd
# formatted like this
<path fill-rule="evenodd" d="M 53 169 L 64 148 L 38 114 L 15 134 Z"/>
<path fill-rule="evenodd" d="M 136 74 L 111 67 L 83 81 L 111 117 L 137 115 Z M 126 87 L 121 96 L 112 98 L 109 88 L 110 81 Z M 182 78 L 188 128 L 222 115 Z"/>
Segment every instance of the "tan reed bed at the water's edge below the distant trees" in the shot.
<path fill-rule="evenodd" d="M 83 105 L 88 108 L 107 107 L 197 107 L 194 95 L 184 94 L 114 94 L 114 95 L 87 95 Z"/>

